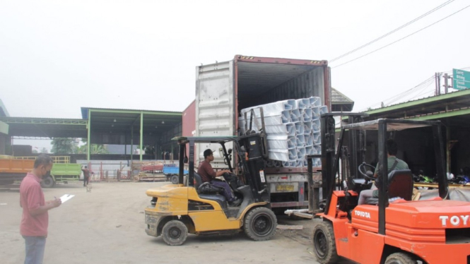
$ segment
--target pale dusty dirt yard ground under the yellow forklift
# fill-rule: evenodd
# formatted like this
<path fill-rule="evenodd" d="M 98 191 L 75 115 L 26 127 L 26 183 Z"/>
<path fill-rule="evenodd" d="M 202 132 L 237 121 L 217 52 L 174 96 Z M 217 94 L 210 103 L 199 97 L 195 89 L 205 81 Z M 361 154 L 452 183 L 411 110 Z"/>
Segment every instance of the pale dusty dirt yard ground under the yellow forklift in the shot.
<path fill-rule="evenodd" d="M 45 188 L 46 200 L 66 193 L 75 197 L 49 211 L 45 261 L 63 263 L 317 263 L 312 253 L 316 220 L 289 220 L 302 230 L 278 230 L 270 241 L 256 242 L 245 234 L 189 235 L 182 246 L 167 246 L 148 236 L 143 209 L 145 191 L 168 183 L 81 183 Z M 22 209 L 18 189 L 0 191 L 0 256 L 2 263 L 23 263 L 24 240 L 19 234 Z"/>

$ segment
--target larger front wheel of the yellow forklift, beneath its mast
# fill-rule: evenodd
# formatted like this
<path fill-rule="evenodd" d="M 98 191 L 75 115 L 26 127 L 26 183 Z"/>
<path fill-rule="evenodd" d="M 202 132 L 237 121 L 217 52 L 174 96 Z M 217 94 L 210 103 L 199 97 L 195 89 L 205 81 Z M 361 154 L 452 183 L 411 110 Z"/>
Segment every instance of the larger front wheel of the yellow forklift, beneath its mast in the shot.
<path fill-rule="evenodd" d="M 266 241 L 276 234 L 277 219 L 268 208 L 259 207 L 250 210 L 245 216 L 243 229 L 254 241 Z"/>

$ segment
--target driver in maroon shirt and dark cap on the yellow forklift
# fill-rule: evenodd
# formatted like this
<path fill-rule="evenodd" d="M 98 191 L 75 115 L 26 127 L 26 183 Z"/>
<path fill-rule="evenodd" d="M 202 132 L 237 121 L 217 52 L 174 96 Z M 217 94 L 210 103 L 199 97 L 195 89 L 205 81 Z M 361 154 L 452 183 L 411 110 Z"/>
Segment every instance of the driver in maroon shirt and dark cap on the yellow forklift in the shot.
<path fill-rule="evenodd" d="M 240 205 L 241 200 L 237 199 L 233 193 L 230 186 L 225 181 L 214 181 L 218 176 L 222 176 L 222 174 L 228 172 L 231 173 L 230 170 L 224 169 L 218 172 L 214 172 L 211 166 L 211 161 L 213 161 L 213 152 L 210 149 L 204 150 L 204 162 L 199 164 L 199 169 L 197 173 L 201 176 L 202 182 L 210 182 L 212 185 L 219 186 L 223 188 L 223 196 L 227 198 L 227 201 L 231 203 L 233 206 Z"/>

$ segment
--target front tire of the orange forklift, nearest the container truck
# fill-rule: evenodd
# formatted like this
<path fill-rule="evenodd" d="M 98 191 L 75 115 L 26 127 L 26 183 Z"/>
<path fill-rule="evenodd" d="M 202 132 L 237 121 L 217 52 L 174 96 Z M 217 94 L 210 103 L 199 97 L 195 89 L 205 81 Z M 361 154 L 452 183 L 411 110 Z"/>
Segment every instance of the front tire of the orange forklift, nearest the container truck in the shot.
<path fill-rule="evenodd" d="M 330 222 L 319 222 L 313 229 L 313 248 L 319 263 L 329 264 L 339 261 L 334 231 Z"/>

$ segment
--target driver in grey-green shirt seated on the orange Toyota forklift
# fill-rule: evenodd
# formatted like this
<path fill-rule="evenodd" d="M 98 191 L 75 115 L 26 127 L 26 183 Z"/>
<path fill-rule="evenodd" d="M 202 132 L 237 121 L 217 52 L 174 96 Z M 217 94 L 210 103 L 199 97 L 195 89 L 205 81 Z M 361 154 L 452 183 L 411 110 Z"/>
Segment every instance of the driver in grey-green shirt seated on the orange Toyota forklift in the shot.
<path fill-rule="evenodd" d="M 398 152 L 398 147 L 396 142 L 392 139 L 387 140 L 387 167 L 388 172 L 392 172 L 394 169 L 408 169 L 408 164 L 403 160 L 397 159 L 396 152 Z M 381 176 L 378 174 L 379 172 L 379 164 L 375 167 L 374 178 L 377 178 L 375 181 L 375 186 L 378 186 L 378 182 L 380 181 Z M 365 204 L 365 200 L 368 198 L 379 198 L 379 190 L 376 188 L 375 190 L 364 190 L 360 192 L 358 205 Z"/>

